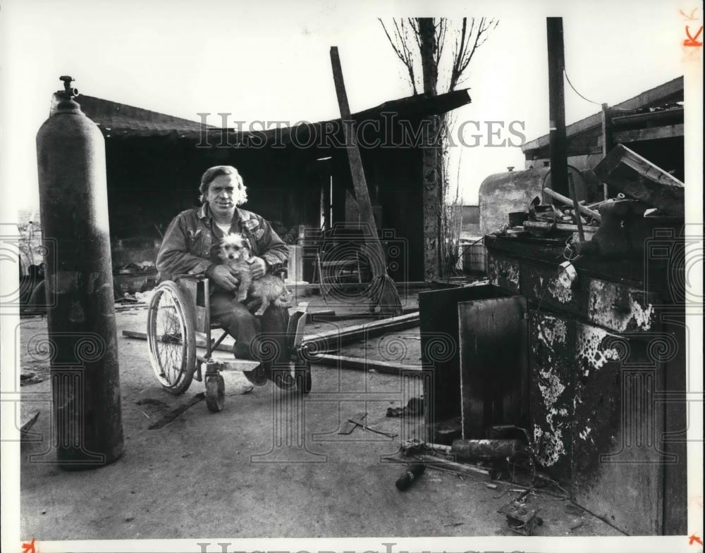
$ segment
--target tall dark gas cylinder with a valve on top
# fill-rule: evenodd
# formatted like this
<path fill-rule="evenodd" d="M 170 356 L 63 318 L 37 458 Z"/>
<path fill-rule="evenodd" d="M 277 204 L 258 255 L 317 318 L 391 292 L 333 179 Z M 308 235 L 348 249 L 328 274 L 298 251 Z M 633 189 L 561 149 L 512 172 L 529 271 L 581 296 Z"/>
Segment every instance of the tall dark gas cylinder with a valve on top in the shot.
<path fill-rule="evenodd" d="M 56 461 L 94 468 L 123 452 L 105 141 L 71 77 L 37 132 Z"/>

